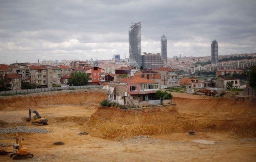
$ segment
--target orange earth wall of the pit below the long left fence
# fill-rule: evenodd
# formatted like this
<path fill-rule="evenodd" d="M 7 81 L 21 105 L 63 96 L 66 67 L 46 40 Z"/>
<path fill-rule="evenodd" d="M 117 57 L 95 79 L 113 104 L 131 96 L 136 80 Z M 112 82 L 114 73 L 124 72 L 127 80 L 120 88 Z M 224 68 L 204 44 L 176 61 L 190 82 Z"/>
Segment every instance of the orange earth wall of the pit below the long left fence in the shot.
<path fill-rule="evenodd" d="M 62 90 L 35 94 L 0 96 L 0 110 L 13 111 L 38 108 L 49 105 L 73 104 L 86 105 L 88 102 L 98 105 L 107 98 L 107 92 L 97 89 Z"/>

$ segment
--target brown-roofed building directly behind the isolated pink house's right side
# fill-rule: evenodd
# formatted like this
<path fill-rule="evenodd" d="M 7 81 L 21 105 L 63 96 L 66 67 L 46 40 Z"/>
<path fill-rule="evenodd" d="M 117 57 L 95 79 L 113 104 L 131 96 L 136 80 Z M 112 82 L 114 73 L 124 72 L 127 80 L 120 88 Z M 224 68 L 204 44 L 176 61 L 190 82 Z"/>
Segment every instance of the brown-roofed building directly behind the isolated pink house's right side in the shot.
<path fill-rule="evenodd" d="M 161 81 L 161 73 L 160 72 L 155 72 L 152 70 L 138 70 L 137 72 L 134 73 L 134 76 L 156 81 L 161 86 L 162 81 Z"/>

